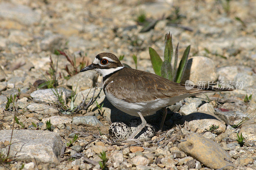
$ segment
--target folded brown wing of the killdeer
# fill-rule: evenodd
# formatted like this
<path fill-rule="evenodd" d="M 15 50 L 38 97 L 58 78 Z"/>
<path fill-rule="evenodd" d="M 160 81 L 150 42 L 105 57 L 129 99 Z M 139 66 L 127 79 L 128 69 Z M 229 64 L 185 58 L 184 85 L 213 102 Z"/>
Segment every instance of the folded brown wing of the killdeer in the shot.
<path fill-rule="evenodd" d="M 108 84 L 105 90 L 128 102 L 154 101 L 185 93 L 210 92 L 198 88 L 187 90 L 183 84 L 172 82 L 149 72 L 126 67 L 113 75 L 116 79 L 111 79 L 113 83 Z M 113 86 L 115 88 L 112 88 Z"/>

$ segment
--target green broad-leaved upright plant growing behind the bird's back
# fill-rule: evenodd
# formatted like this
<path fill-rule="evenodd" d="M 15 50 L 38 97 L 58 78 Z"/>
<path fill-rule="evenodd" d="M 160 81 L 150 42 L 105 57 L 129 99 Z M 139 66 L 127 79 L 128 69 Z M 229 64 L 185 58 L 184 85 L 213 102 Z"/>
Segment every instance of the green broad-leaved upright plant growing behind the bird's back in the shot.
<path fill-rule="evenodd" d="M 180 83 L 184 70 L 186 68 L 186 65 L 188 63 L 188 54 L 190 51 L 190 45 L 185 49 L 183 56 L 180 60 L 179 67 L 177 68 L 179 43 L 176 47 L 175 54 L 173 54 L 172 35 L 170 35 L 170 33 L 166 33 L 164 40 L 165 40 L 164 61 L 162 61 L 160 56 L 156 53 L 156 50 L 149 47 L 149 55 L 150 55 L 150 60 L 151 60 L 153 69 L 156 75 L 162 76 L 171 81 Z M 171 64 L 172 60 L 174 60 L 173 65 Z"/>

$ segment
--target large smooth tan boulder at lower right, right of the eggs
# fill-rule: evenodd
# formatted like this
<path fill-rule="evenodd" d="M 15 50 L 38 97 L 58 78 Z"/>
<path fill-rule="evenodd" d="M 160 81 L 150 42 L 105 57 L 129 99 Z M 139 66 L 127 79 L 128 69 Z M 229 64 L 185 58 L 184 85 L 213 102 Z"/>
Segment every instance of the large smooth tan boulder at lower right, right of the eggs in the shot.
<path fill-rule="evenodd" d="M 202 137 L 198 133 L 190 134 L 187 141 L 178 144 L 178 148 L 213 169 L 219 169 L 230 164 L 224 159 L 232 161 L 228 152 L 222 149 L 219 144 L 211 139 Z M 231 168 L 231 166 L 225 169 L 228 168 Z"/>

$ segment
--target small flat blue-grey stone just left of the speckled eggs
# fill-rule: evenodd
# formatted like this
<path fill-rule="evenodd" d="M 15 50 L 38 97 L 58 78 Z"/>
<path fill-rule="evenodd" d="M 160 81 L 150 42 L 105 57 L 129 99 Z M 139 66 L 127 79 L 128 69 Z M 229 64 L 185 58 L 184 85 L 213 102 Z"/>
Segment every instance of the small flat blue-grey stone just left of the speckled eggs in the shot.
<path fill-rule="evenodd" d="M 103 124 L 95 116 L 76 116 L 72 119 L 73 124 L 89 124 L 92 126 L 103 126 Z"/>

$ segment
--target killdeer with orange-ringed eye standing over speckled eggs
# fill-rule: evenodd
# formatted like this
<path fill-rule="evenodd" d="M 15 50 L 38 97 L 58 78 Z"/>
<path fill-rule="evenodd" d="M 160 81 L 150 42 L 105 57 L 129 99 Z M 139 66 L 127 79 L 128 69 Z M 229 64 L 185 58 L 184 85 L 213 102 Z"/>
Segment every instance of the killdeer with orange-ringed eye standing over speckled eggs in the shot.
<path fill-rule="evenodd" d="M 86 70 L 95 70 L 103 76 L 103 91 L 113 106 L 129 115 L 140 116 L 142 123 L 128 140 L 133 139 L 146 126 L 147 122 L 143 116 L 153 115 L 157 110 L 191 95 L 232 90 L 198 86 L 188 89 L 184 84 L 175 83 L 156 74 L 124 67 L 116 55 L 111 53 L 96 55 L 93 63 L 80 72 Z M 166 115 L 165 108 L 160 130 Z"/>

